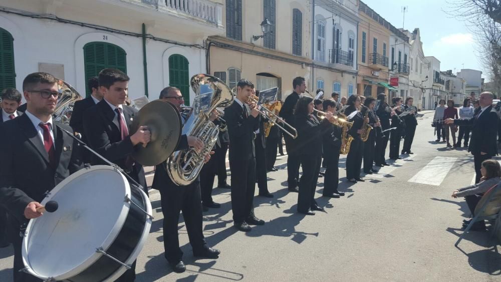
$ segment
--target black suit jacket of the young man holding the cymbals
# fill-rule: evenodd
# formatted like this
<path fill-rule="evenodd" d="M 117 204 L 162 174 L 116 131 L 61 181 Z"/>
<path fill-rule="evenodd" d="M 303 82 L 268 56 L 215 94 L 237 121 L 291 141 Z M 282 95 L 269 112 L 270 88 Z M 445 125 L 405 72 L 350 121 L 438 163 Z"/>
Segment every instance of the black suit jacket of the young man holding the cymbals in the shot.
<path fill-rule="evenodd" d="M 130 125 L 136 113 L 136 109 L 123 105 L 125 123 L 127 124 L 130 135 L 133 134 L 133 132 L 130 132 Z M 134 151 L 134 146 L 130 140 L 130 135 L 122 140 L 120 129 L 113 123 L 114 118 L 115 112 L 111 109 L 106 100 L 103 99 L 84 112 L 84 133 L 88 145 L 93 150 L 110 162 L 127 170 L 125 160 L 126 157 Z M 137 146 L 141 146 L 141 144 Z M 105 163 L 99 158 L 94 157 L 92 164 Z M 133 170 L 129 175 L 147 191 L 144 169 L 140 163 L 134 162 Z"/>

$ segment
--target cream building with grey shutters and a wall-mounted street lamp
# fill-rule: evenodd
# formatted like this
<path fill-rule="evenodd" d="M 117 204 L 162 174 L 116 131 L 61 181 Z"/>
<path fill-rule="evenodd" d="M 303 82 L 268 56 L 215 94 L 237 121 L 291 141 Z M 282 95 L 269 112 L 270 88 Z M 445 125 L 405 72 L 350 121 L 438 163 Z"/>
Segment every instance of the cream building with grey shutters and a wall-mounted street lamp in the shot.
<path fill-rule="evenodd" d="M 225 0 L 222 22 L 226 34 L 207 39 L 207 71 L 235 87 L 241 78 L 258 90 L 279 87 L 279 98 L 292 93 L 292 81 L 301 76 L 314 91 L 310 66 L 311 5 L 309 1 Z M 264 19 L 272 33 L 262 36 Z"/>

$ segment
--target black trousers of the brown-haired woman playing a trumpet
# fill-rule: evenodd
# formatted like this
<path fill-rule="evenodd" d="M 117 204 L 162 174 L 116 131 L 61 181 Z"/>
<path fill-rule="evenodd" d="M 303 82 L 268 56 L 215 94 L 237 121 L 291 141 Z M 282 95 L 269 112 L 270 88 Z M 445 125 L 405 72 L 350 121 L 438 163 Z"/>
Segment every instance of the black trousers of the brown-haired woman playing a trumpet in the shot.
<path fill-rule="evenodd" d="M 303 154 L 300 156 L 300 161 L 303 164 L 303 175 L 299 184 L 298 211 L 306 212 L 314 203 L 315 180 L 318 179 L 320 171 L 320 158 Z"/>

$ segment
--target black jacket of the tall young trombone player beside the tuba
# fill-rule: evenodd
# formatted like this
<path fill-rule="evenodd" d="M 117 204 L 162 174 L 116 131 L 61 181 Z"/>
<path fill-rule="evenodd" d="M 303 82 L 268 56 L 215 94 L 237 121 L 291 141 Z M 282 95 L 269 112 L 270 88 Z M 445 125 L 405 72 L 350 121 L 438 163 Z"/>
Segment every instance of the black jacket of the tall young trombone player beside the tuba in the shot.
<path fill-rule="evenodd" d="M 228 124 L 229 160 L 249 160 L 255 157 L 254 131 L 258 130 L 259 118 L 250 113 L 245 118 L 243 108 L 233 102 L 224 108 L 224 120 Z"/>

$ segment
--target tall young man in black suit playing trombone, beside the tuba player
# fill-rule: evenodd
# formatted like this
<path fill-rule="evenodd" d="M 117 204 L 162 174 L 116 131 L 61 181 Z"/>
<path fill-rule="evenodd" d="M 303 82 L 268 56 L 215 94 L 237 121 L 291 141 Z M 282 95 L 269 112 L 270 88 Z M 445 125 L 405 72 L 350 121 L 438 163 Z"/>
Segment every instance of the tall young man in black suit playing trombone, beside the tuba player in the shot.
<path fill-rule="evenodd" d="M 234 102 L 224 108 L 229 134 L 229 169 L 231 171 L 231 210 L 233 226 L 243 232 L 252 230 L 249 224 L 264 225 L 254 215 L 256 190 L 256 152 L 254 131 L 259 128 L 256 103 L 248 102 L 254 84 L 242 79 L 236 86 Z M 248 104 L 247 104 L 248 103 Z"/>

